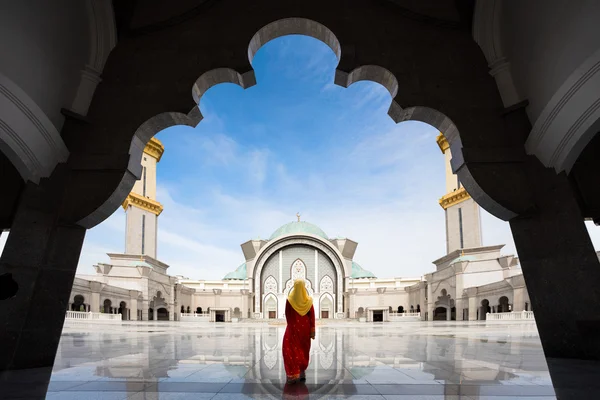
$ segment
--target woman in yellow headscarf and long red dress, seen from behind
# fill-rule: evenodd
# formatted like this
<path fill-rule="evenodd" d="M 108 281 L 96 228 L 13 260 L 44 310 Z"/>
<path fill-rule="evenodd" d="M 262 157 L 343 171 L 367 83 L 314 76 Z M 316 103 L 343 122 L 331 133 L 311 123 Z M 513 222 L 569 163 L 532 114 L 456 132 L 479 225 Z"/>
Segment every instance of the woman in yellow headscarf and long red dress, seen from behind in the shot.
<path fill-rule="evenodd" d="M 287 328 L 283 336 L 283 364 L 287 383 L 306 380 L 310 340 L 315 338 L 315 309 L 302 279 L 294 282 L 285 303 Z"/>

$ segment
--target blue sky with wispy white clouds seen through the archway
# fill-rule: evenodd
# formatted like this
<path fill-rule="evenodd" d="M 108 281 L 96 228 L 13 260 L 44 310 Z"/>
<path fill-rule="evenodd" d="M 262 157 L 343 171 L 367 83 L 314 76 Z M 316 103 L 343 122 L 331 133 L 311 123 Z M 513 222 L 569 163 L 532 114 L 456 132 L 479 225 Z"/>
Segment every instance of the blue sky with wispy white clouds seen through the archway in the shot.
<path fill-rule="evenodd" d="M 241 243 L 268 238 L 296 212 L 330 237 L 356 240 L 355 260 L 379 277 L 418 277 L 445 254 L 438 132 L 394 124 L 391 97 L 376 83 L 333 85 L 336 64 L 315 39 L 276 39 L 253 60 L 256 86 L 218 85 L 202 98 L 195 129 L 157 135 L 166 148 L 158 258 L 170 274 L 220 279 L 244 261 Z M 482 221 L 484 244 L 514 254 L 508 224 L 483 210 Z M 88 232 L 78 273 L 124 251 L 124 238 L 119 208 Z"/>

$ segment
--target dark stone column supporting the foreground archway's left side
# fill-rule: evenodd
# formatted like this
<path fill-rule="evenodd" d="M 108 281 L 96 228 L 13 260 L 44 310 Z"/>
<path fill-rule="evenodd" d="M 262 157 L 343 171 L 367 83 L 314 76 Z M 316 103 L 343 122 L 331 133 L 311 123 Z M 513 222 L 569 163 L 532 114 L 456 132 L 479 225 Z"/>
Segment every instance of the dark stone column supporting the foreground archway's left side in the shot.
<path fill-rule="evenodd" d="M 84 228 L 61 217 L 56 188 L 64 188 L 66 175 L 59 168 L 23 189 L 0 258 L 0 279 L 10 290 L 0 301 L 0 372 L 54 364 L 85 237 Z"/>

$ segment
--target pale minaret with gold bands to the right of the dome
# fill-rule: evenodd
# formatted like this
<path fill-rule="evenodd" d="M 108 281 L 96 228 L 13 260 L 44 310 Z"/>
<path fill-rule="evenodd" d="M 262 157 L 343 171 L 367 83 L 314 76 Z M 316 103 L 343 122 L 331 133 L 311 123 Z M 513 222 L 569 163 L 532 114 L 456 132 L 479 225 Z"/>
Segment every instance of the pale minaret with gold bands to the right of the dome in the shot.
<path fill-rule="evenodd" d="M 440 199 L 440 206 L 446 213 L 446 252 L 481 247 L 479 205 L 460 184 L 458 176 L 452 172 L 452 154 L 444 135 L 440 133 L 436 141 L 444 154 L 446 164 L 446 195 Z"/>

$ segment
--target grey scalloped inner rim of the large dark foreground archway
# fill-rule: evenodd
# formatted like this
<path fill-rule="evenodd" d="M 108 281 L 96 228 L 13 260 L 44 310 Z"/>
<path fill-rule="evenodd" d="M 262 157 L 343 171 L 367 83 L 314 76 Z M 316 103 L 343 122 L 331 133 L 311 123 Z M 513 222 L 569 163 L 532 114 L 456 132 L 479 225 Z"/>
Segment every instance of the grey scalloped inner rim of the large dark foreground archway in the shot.
<path fill-rule="evenodd" d="M 257 51 L 269 41 L 286 35 L 305 35 L 325 43 L 341 61 L 341 44 L 336 35 L 326 26 L 305 18 L 285 18 L 271 22 L 259 29 L 248 44 L 248 60 L 250 65 Z M 510 220 L 517 215 L 492 199 L 476 182 L 468 166 L 465 165 L 462 154 L 462 143 L 456 125 L 443 113 L 427 107 L 409 107 L 403 109 L 396 99 L 400 96 L 397 78 L 388 69 L 378 65 L 356 66 L 350 72 L 336 68 L 334 83 L 349 87 L 358 81 L 373 81 L 379 83 L 390 93 L 392 101 L 388 115 L 395 123 L 413 120 L 427 123 L 446 136 L 452 151 L 452 168 L 475 201 L 494 216 Z M 254 70 L 240 73 L 232 68 L 216 68 L 206 71 L 194 83 L 192 97 L 196 106 L 188 114 L 167 112 L 156 115 L 145 121 L 136 130 L 130 147 L 130 161 L 121 183 L 106 202 L 92 214 L 79 221 L 81 226 L 91 228 L 102 222 L 116 210 L 129 194 L 136 179 L 141 176 L 141 157 L 144 146 L 158 132 L 175 125 L 195 127 L 203 118 L 198 107 L 202 96 L 213 86 L 220 83 L 234 83 L 243 89 L 256 84 Z M 258 300 L 257 300 L 258 301 Z"/>

